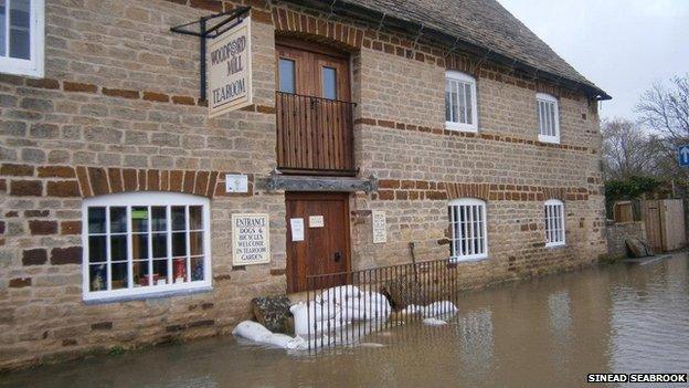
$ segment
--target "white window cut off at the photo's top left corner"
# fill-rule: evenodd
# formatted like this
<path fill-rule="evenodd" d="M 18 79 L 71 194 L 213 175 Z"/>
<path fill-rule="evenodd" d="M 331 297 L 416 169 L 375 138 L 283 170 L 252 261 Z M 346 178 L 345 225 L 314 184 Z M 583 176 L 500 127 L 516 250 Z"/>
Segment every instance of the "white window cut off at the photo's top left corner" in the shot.
<path fill-rule="evenodd" d="M 43 0 L 0 0 L 0 72 L 43 76 Z"/>

